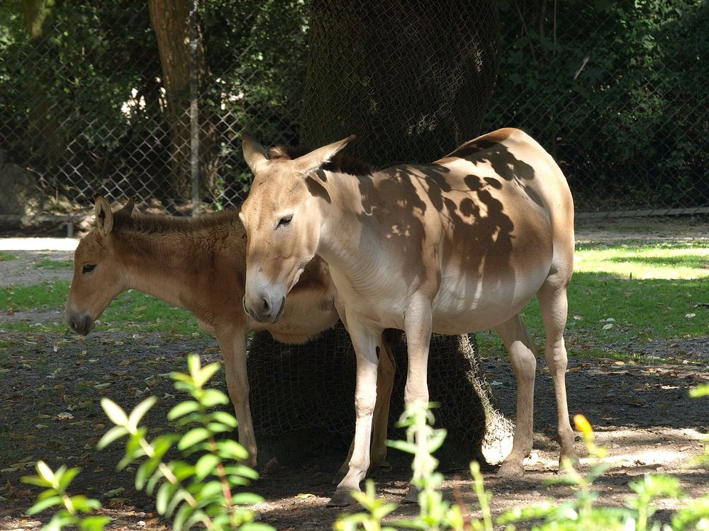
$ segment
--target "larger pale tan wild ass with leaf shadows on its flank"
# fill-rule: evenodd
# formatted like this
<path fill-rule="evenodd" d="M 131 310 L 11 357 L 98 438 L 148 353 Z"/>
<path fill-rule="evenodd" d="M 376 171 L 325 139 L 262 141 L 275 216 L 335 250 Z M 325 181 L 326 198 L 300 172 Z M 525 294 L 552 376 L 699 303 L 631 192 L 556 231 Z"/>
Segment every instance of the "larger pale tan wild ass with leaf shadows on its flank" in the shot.
<path fill-rule="evenodd" d="M 431 332 L 496 329 L 518 381 L 517 430 L 499 474 L 520 476 L 532 449 L 536 347 L 520 309 L 537 295 L 554 379 L 562 457 L 574 456 L 566 406 L 566 286 L 574 207 L 551 156 L 524 132 L 501 129 L 432 164 L 375 172 L 330 169 L 354 137 L 302 156 L 271 156 L 243 138 L 254 173 L 240 217 L 248 236 L 244 306 L 275 322 L 306 264 L 330 266 L 337 310 L 357 352 L 357 421 L 350 471 L 330 504 L 347 504 L 369 464 L 381 331 L 406 332 L 405 400 L 428 401 Z M 410 491 L 410 493 L 413 493 Z"/>

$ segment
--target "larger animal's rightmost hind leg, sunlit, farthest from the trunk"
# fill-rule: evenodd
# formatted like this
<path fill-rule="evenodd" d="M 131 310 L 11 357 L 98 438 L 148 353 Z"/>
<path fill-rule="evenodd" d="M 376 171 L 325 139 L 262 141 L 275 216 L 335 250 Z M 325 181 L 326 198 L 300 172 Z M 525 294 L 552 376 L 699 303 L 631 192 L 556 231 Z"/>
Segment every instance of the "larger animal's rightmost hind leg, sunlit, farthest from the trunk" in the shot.
<path fill-rule="evenodd" d="M 542 310 L 547 344 L 544 349 L 545 359 L 554 382 L 554 395 L 557 399 L 557 438 L 561 450 L 559 463 L 564 457 L 576 460 L 574 452 L 574 430 L 569 423 L 569 406 L 566 404 L 566 347 L 564 346 L 564 326 L 566 325 L 566 282 L 555 282 L 549 277 L 542 285 L 537 298 Z M 559 285 L 560 284 L 560 285 Z"/>

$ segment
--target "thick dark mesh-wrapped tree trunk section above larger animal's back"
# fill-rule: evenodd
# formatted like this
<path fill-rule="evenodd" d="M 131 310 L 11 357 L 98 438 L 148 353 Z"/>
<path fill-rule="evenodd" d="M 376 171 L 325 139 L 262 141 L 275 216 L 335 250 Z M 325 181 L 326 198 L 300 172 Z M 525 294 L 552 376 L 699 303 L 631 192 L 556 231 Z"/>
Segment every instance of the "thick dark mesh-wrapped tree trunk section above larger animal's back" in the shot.
<path fill-rule="evenodd" d="M 353 133 L 375 165 L 430 162 L 479 134 L 498 69 L 493 0 L 313 0 L 303 143 Z"/>

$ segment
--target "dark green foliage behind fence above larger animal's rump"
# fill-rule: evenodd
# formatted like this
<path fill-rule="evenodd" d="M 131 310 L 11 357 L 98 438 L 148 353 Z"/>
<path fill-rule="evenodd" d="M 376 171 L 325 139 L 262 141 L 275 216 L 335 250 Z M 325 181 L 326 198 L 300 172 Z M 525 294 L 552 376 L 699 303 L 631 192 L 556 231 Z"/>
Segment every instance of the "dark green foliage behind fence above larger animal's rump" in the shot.
<path fill-rule="evenodd" d="M 703 0 L 503 1 L 485 130 L 549 149 L 581 210 L 698 204 L 709 132 Z M 697 188 L 698 187 L 698 188 Z M 693 191 L 694 190 L 694 191 Z"/>

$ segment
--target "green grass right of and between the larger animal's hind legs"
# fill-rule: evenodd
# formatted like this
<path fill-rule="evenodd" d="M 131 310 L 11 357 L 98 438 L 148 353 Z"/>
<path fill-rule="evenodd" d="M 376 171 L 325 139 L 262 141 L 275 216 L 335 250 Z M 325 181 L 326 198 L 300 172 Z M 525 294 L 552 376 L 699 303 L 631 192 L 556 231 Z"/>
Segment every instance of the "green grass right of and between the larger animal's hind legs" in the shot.
<path fill-rule="evenodd" d="M 697 306 L 709 303 L 708 280 L 707 242 L 579 246 L 568 292 L 569 355 L 640 359 L 636 350 L 645 343 L 709 336 L 709 308 Z M 536 299 L 522 315 L 542 346 Z M 493 333 L 479 341 L 484 352 L 503 351 Z"/>

